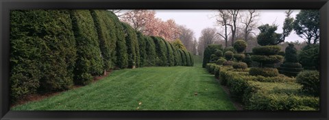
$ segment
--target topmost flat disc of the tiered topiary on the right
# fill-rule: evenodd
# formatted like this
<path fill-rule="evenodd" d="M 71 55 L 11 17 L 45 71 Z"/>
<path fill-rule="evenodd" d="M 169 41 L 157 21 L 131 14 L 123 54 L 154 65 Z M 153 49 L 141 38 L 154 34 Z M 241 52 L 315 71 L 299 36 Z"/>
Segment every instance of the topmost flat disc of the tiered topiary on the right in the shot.
<path fill-rule="evenodd" d="M 254 55 L 271 56 L 271 55 L 277 55 L 280 50 L 281 48 L 278 45 L 269 45 L 269 46 L 254 47 L 252 49 L 252 53 L 254 53 Z"/>

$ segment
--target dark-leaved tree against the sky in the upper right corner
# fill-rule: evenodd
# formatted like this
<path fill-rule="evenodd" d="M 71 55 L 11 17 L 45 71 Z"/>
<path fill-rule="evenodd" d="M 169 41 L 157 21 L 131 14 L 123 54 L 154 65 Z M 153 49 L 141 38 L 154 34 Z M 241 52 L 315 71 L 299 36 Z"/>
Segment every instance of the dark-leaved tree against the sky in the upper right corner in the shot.
<path fill-rule="evenodd" d="M 300 10 L 293 22 L 293 29 L 296 34 L 307 40 L 306 43 L 308 44 L 316 44 L 319 41 L 319 28 L 319 10 Z"/>

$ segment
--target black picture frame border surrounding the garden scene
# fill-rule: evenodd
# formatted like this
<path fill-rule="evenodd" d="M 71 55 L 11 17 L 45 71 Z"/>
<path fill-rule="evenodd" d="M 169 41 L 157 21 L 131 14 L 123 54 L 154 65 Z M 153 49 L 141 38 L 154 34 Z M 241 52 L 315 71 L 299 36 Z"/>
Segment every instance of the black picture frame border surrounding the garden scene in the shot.
<path fill-rule="evenodd" d="M 1 0 L 0 118 L 1 119 L 328 119 L 328 0 Z M 10 10 L 29 9 L 317 9 L 320 10 L 319 111 L 12 111 L 9 106 Z"/>

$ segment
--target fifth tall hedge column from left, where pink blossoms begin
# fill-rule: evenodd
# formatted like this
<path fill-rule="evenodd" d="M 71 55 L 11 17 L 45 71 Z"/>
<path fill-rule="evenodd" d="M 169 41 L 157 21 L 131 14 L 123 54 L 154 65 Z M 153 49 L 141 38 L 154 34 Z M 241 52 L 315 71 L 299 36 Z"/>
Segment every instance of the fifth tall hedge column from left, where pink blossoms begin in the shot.
<path fill-rule="evenodd" d="M 125 29 L 125 45 L 128 53 L 128 67 L 138 66 L 139 64 L 139 49 L 136 32 L 127 23 L 122 23 Z"/>

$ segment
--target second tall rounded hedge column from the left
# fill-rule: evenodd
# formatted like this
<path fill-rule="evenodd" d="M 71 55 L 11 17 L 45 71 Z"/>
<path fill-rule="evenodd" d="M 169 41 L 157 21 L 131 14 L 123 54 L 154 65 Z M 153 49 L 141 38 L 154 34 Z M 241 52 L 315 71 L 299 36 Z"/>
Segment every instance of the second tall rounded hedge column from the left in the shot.
<path fill-rule="evenodd" d="M 97 30 L 89 10 L 71 10 L 71 19 L 77 49 L 74 82 L 88 84 L 92 82 L 93 75 L 103 72 Z"/>

